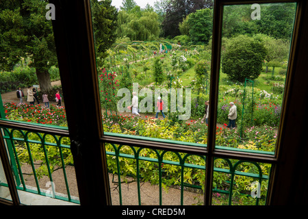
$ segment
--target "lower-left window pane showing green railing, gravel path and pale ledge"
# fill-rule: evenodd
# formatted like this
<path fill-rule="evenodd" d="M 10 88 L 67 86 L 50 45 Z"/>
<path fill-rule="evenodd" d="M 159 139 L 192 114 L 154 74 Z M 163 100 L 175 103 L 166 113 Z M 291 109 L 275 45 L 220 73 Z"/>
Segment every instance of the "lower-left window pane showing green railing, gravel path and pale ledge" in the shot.
<path fill-rule="evenodd" d="M 69 138 L 2 130 L 22 204 L 79 204 Z"/>

